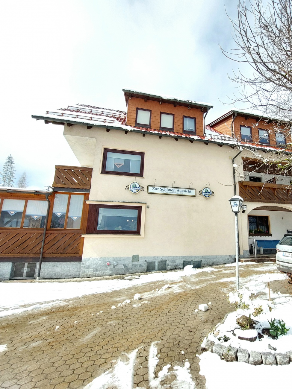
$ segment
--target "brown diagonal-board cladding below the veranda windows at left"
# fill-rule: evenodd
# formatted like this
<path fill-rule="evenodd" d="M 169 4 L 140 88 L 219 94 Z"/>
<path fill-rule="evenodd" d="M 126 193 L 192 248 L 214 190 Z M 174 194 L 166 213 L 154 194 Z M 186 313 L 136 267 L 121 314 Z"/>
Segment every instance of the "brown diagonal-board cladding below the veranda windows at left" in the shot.
<path fill-rule="evenodd" d="M 0 258 L 40 255 L 42 231 L 17 231 L 7 228 L 0 231 Z M 67 231 L 47 231 L 44 246 L 44 257 L 81 256 L 81 233 Z"/>

